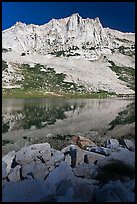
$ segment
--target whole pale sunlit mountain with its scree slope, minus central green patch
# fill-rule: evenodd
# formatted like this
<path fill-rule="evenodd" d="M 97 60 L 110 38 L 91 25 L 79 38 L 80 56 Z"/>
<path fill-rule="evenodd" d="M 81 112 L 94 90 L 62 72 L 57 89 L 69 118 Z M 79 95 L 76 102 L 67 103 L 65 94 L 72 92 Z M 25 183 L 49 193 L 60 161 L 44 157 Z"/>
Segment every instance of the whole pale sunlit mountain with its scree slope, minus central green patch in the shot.
<path fill-rule="evenodd" d="M 81 91 L 134 94 L 135 33 L 104 28 L 98 17 L 76 13 L 41 26 L 17 22 L 2 32 L 2 53 L 3 88 L 23 88 L 28 81 L 22 64 L 36 69 L 41 64 L 41 78 L 46 67 L 54 68 L 65 74 L 63 83 L 80 85 Z M 42 89 L 51 91 L 48 85 L 53 87 L 46 81 Z"/>

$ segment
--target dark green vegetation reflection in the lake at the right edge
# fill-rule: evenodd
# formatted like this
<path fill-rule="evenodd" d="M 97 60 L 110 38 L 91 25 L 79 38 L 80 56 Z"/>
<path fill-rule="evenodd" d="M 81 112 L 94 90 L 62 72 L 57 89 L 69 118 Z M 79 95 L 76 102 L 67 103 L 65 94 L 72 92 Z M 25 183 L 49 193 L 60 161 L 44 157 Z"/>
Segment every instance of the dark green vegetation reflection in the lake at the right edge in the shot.
<path fill-rule="evenodd" d="M 112 130 L 116 125 L 126 125 L 133 122 L 135 122 L 135 102 L 130 103 L 125 110 L 118 113 L 118 116 L 109 123 L 111 125 L 109 130 Z"/>

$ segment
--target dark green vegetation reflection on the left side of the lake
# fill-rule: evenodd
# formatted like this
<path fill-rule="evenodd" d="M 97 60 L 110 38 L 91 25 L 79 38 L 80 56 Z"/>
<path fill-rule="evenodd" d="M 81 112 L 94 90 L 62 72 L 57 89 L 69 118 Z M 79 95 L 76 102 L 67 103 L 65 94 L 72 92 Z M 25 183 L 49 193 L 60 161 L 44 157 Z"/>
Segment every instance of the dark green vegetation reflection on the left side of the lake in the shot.
<path fill-rule="evenodd" d="M 73 111 L 77 105 L 71 106 L 64 104 L 62 107 L 47 107 L 41 105 L 26 105 L 23 110 L 13 111 L 12 113 L 5 113 L 2 117 L 2 132 L 7 132 L 12 129 L 17 130 L 20 128 L 29 129 L 32 126 L 42 128 L 46 125 L 54 124 L 57 120 L 66 118 L 65 112 Z M 18 114 L 22 118 L 18 118 Z M 5 118 L 4 118 L 5 116 Z"/>

